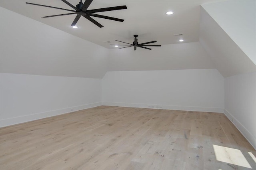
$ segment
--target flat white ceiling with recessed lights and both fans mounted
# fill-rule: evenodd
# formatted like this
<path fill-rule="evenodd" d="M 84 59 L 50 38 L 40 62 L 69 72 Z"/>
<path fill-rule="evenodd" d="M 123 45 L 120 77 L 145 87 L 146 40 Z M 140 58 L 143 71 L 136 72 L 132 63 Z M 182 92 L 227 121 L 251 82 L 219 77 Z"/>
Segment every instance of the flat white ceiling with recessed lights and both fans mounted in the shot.
<path fill-rule="evenodd" d="M 124 22 L 94 18 L 104 26 L 99 28 L 85 18 L 80 18 L 76 24 L 78 29 L 70 27 L 75 15 L 41 18 L 69 12 L 28 5 L 25 2 L 72 10 L 61 0 L 0 0 L 0 6 L 110 49 L 116 48 L 109 45 L 118 44 L 114 41 L 116 39 L 132 43 L 134 34 L 139 35 L 139 43 L 156 40 L 158 42 L 155 45 L 180 43 L 180 38 L 185 40 L 183 43 L 199 41 L 200 4 L 220 0 L 94 0 L 88 10 L 126 5 L 128 9 L 125 10 L 97 13 L 121 18 Z M 79 0 L 68 2 L 75 6 Z M 169 10 L 174 14 L 167 16 L 165 12 Z M 183 35 L 174 36 L 180 33 Z"/>

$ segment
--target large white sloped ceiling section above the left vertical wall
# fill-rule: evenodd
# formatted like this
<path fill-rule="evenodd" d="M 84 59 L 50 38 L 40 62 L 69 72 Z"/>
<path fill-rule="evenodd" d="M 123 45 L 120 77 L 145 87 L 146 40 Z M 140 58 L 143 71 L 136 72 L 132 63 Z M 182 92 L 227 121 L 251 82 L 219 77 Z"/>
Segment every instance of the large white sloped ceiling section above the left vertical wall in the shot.
<path fill-rule="evenodd" d="M 2 7 L 0 37 L 4 73 L 102 78 L 107 70 L 108 49 Z"/>

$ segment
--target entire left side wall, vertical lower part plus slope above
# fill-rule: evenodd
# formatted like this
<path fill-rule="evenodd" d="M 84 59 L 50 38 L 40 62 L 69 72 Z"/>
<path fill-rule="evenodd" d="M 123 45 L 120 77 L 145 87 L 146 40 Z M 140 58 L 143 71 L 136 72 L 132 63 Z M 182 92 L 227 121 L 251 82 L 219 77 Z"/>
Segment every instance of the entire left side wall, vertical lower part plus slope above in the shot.
<path fill-rule="evenodd" d="M 2 7 L 0 37 L 1 127 L 101 105 L 108 49 Z"/>

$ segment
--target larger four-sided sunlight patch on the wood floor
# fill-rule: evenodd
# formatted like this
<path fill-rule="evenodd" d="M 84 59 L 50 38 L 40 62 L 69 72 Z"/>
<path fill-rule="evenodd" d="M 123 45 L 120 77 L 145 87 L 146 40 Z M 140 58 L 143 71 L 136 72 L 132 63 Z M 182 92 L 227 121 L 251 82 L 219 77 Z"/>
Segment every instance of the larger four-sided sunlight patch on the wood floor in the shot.
<path fill-rule="evenodd" d="M 213 149 L 218 161 L 243 166 L 246 168 L 252 168 L 239 149 L 222 147 L 218 145 L 213 145 Z"/>

